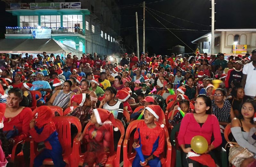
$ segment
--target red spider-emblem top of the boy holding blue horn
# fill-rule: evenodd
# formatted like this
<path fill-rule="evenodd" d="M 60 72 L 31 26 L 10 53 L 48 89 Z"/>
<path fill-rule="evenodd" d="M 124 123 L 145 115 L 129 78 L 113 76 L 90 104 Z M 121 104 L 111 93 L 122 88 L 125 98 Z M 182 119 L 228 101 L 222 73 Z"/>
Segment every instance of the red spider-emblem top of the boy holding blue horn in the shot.
<path fill-rule="evenodd" d="M 165 132 L 159 124 L 155 128 L 149 128 L 144 121 L 139 122 L 134 133 L 134 139 L 140 139 L 142 154 L 145 156 L 153 155 L 159 157 L 164 151 Z M 156 142 L 158 140 L 158 142 Z"/>

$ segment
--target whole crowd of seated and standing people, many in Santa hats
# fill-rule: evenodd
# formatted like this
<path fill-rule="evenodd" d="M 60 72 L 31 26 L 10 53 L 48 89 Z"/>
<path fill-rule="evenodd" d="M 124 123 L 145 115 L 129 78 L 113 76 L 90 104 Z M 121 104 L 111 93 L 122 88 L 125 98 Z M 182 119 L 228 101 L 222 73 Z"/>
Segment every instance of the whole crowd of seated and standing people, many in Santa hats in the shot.
<path fill-rule="evenodd" d="M 82 57 L 46 52 L 37 57 L 1 54 L 0 153 L 4 154 L 0 156 L 4 155 L 4 162 L 15 143 L 31 136 L 44 142 L 34 166 L 41 166 L 45 158 L 52 158 L 55 166 L 66 165 L 50 108 L 58 106 L 66 116 L 77 117 L 82 129 L 89 121 L 93 123 L 78 138 L 90 145 L 84 166 L 107 162 L 109 143 L 116 143 L 120 134 L 114 132 L 113 138 L 103 123 L 109 120 L 116 127 L 115 118 L 124 129 L 130 122 L 144 119 L 137 125 L 132 147 L 142 146 L 145 162 L 137 154 L 132 166 L 161 166 L 164 126 L 180 126 L 176 139 L 184 166 L 207 166 L 193 155 L 191 140 L 196 135 L 208 142 L 205 155 L 221 166 L 218 151 L 227 144 L 227 125 L 231 125 L 230 140 L 252 153 L 239 159 L 237 166 L 256 166 L 256 49 L 244 56 L 199 52 L 185 56 L 142 52 L 137 56 L 125 53 L 117 62 L 114 56 L 101 60 L 97 53 Z M 76 127 L 71 131 L 77 133 Z M 27 147 L 24 144 L 19 149 Z"/>

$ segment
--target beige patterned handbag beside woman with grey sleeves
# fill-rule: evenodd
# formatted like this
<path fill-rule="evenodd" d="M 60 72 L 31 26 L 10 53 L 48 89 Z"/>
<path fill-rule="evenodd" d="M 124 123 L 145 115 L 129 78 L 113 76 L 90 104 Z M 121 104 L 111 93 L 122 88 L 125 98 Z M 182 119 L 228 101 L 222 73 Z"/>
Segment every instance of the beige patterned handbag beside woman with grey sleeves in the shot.
<path fill-rule="evenodd" d="M 229 149 L 228 161 L 235 167 L 240 167 L 243 160 L 245 160 L 246 158 L 251 158 L 252 156 L 254 156 L 254 154 L 248 149 L 238 145 L 233 145 L 230 146 Z"/>

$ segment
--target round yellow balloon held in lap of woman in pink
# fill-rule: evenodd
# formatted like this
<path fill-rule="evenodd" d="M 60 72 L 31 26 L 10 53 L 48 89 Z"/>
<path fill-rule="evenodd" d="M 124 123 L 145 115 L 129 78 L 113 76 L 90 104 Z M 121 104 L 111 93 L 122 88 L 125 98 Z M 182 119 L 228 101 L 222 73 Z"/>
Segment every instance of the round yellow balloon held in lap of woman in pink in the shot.
<path fill-rule="evenodd" d="M 203 136 L 194 136 L 190 142 L 191 148 L 197 154 L 203 154 L 208 149 L 208 142 Z"/>

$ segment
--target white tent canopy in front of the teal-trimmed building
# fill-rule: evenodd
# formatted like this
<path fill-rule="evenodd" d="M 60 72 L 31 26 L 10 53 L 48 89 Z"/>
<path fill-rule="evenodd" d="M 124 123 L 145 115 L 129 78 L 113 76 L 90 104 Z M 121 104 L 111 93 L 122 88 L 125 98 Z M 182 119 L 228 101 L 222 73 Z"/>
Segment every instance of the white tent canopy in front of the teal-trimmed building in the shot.
<path fill-rule="evenodd" d="M 3 39 L 0 40 L 0 53 L 72 53 L 81 51 L 54 39 Z"/>

